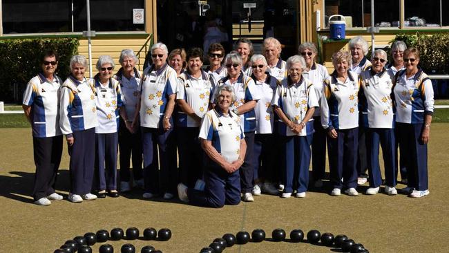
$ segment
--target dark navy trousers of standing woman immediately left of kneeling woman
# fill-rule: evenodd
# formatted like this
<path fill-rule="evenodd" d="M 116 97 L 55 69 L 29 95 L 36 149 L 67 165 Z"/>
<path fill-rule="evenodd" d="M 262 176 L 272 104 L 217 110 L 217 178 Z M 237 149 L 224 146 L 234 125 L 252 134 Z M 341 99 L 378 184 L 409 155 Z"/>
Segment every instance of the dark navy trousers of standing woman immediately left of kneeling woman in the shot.
<path fill-rule="evenodd" d="M 199 127 L 178 127 L 178 146 L 180 157 L 180 181 L 187 187 L 194 187 L 202 178 L 203 151 L 198 135 Z"/>

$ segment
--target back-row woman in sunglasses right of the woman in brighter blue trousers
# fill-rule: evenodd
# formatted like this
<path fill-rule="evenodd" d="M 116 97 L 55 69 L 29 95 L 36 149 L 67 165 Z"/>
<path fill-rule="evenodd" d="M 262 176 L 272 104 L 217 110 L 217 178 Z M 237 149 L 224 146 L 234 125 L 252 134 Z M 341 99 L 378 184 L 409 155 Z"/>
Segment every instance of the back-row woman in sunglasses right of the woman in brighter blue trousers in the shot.
<path fill-rule="evenodd" d="M 303 76 L 314 84 L 316 98 L 318 104 L 321 102 L 323 95 L 324 80 L 329 77 L 327 69 L 321 64 L 315 62 L 316 47 L 313 43 L 304 42 L 298 47 L 298 53 L 305 59 L 305 71 Z M 326 131 L 321 127 L 321 109 L 318 107 L 314 112 L 314 138 L 312 140 L 312 176 L 314 187 L 323 187 L 323 178 L 325 175 L 326 165 Z"/>

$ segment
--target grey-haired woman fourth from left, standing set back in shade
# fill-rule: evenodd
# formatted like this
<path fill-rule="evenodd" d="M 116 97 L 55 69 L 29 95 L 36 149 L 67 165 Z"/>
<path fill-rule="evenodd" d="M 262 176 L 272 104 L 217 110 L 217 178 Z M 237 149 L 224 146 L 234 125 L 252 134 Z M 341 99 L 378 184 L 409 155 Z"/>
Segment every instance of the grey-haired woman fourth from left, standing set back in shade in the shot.
<path fill-rule="evenodd" d="M 115 79 L 120 83 L 123 100 L 124 114 L 119 123 L 119 150 L 120 150 L 120 191 L 130 191 L 135 183 L 137 187 L 144 187 L 142 178 L 142 135 L 140 129 L 135 125 L 131 128 L 135 108 L 140 95 L 140 79 L 142 73 L 135 68 L 138 62 L 137 56 L 132 49 L 124 49 L 120 53 L 119 62 L 122 66 Z M 131 182 L 130 159 L 133 162 L 133 182 Z"/>

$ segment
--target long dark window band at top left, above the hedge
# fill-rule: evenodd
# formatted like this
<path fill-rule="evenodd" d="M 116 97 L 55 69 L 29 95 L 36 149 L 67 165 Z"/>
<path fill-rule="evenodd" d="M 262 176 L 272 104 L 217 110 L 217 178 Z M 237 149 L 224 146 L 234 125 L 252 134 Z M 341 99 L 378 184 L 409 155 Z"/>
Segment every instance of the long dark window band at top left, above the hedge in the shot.
<path fill-rule="evenodd" d="M 3 34 L 87 30 L 86 1 L 2 0 L 1 7 Z M 90 29 L 144 30 L 133 24 L 133 9 L 144 9 L 144 0 L 90 0 Z"/>

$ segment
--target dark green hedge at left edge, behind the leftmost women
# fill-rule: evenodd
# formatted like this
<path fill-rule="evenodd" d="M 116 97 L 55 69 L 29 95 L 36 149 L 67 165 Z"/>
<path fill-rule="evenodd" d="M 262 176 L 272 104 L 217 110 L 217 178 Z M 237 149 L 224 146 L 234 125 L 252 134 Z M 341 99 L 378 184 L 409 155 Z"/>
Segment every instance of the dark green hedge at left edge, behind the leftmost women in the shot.
<path fill-rule="evenodd" d="M 76 38 L 0 40 L 0 101 L 21 102 L 26 84 L 41 71 L 41 54 L 45 50 L 58 53 L 57 75 L 66 79 L 70 73 L 70 57 L 77 54 L 78 46 Z M 14 97 L 14 84 L 18 87 L 17 97 Z"/>

